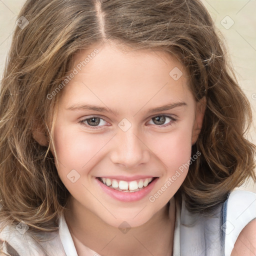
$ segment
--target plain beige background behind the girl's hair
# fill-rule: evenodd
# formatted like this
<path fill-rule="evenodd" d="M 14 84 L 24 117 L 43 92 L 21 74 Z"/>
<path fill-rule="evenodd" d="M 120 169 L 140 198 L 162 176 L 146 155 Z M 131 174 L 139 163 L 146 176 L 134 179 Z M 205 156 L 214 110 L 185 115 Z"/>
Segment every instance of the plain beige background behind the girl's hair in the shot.
<path fill-rule="evenodd" d="M 18 12 L 24 0 L 0 0 L 0 77 Z M 202 0 L 225 37 L 237 79 L 253 111 L 248 139 L 256 143 L 256 0 Z M 239 121 L 239 120 L 237 120 Z M 256 192 L 249 181 L 241 189 Z"/>

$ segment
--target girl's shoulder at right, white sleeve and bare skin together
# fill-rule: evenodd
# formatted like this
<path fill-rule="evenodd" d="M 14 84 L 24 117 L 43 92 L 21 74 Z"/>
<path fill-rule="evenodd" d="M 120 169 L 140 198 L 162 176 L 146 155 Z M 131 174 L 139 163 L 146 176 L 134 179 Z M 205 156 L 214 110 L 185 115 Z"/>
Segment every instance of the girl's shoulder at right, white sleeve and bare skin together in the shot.
<path fill-rule="evenodd" d="M 256 193 L 233 190 L 224 204 L 223 218 L 225 255 L 255 255 Z"/>

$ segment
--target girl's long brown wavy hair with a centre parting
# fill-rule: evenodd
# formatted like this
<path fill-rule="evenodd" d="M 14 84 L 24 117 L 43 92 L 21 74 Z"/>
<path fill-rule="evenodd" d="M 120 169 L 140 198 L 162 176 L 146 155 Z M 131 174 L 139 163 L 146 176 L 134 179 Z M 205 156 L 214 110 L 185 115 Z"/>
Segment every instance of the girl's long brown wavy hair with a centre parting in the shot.
<path fill-rule="evenodd" d="M 19 16 L 29 23 L 15 28 L 0 90 L 0 219 L 57 230 L 69 196 L 49 150 L 61 90 L 51 100 L 47 95 L 70 71 L 75 53 L 108 41 L 176 56 L 194 98 L 206 98 L 192 146 L 192 155 L 201 155 L 179 188 L 189 211 L 210 212 L 248 177 L 256 181 L 255 146 L 244 136 L 250 104 L 199 0 L 27 0 Z M 46 134 L 47 145 L 34 139 L 34 129 Z"/>

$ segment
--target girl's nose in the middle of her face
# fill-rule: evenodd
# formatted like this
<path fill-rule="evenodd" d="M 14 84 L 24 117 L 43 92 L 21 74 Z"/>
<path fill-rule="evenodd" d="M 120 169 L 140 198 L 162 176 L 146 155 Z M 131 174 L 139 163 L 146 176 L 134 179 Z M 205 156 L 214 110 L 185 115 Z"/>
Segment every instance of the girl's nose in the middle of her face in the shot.
<path fill-rule="evenodd" d="M 121 164 L 125 168 L 135 168 L 149 161 L 149 148 L 136 133 L 132 126 L 127 131 L 117 131 L 110 157 L 113 163 Z"/>

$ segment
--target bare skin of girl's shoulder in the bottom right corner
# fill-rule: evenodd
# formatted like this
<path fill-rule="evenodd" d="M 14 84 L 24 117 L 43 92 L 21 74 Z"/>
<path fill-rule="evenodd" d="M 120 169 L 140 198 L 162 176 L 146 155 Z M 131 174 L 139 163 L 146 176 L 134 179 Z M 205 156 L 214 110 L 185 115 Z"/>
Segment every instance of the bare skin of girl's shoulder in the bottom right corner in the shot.
<path fill-rule="evenodd" d="M 231 256 L 256 255 L 256 218 L 251 220 L 240 232 Z"/>

